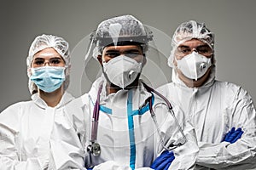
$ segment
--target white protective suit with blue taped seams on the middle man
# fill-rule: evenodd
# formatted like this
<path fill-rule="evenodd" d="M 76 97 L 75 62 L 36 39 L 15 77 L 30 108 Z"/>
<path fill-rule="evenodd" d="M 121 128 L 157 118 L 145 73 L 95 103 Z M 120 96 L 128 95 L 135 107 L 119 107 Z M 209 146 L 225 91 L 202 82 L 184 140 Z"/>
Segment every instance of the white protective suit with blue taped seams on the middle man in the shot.
<path fill-rule="evenodd" d="M 84 164 L 90 164 L 86 148 L 90 140 L 96 95 L 103 79 L 98 78 L 88 94 L 67 105 L 67 117 L 55 122 L 51 146 L 53 167 L 56 169 L 82 169 Z M 102 88 L 97 130 L 97 142 L 101 144 L 102 151 L 100 156 L 91 156 L 94 169 L 150 169 L 162 150 L 157 150 L 160 138 L 148 111 L 148 103 L 145 102 L 151 96 L 142 82 L 139 88 L 119 90 L 108 96 L 105 88 Z M 160 104 L 160 100 L 154 94 L 154 113 L 165 143 L 183 140 L 173 116 L 167 112 L 166 105 Z M 195 131 L 185 122 L 183 112 L 176 105 L 173 111 L 188 142 L 173 150 L 175 159 L 170 169 L 192 169 L 198 153 Z"/>

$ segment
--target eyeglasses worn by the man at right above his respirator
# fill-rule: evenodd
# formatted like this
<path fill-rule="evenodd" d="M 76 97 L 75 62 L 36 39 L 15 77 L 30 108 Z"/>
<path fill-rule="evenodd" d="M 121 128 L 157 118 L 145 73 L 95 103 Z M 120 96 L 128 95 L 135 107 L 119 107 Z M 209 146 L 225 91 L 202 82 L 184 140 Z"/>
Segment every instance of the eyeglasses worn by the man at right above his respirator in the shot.
<path fill-rule="evenodd" d="M 201 45 L 196 48 L 189 48 L 188 46 L 180 46 L 177 48 L 176 54 L 179 57 L 183 57 L 185 55 L 191 54 L 193 51 L 207 57 L 213 54 L 212 48 L 210 48 L 208 45 Z"/>

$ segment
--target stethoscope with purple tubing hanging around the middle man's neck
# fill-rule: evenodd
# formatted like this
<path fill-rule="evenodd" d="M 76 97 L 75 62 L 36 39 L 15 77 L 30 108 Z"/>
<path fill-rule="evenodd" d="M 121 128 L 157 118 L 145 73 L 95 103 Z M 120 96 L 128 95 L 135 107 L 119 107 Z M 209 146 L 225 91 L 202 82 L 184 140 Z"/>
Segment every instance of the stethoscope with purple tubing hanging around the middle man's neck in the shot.
<path fill-rule="evenodd" d="M 162 147 L 165 150 L 173 150 L 173 149 L 175 149 L 175 148 L 185 144 L 187 142 L 187 138 L 186 138 L 185 134 L 183 133 L 182 127 L 177 122 L 177 118 L 176 118 L 176 116 L 174 114 L 174 111 L 172 110 L 172 105 L 169 102 L 169 100 L 166 99 L 165 96 L 163 96 L 162 94 L 160 94 L 159 92 L 157 92 L 153 88 L 148 87 L 148 85 L 146 85 L 144 82 L 143 82 L 143 86 L 144 86 L 144 88 L 146 88 L 146 90 L 149 93 L 157 94 L 158 96 L 160 96 L 161 99 L 163 99 L 165 101 L 167 109 L 168 109 L 168 112 L 174 118 L 174 120 L 175 120 L 175 122 L 177 124 L 178 130 L 180 131 L 180 133 L 183 136 L 183 142 L 179 142 L 177 144 L 172 143 L 172 144 L 169 144 L 168 146 L 165 145 L 164 139 L 160 135 L 160 128 L 159 128 L 159 125 L 158 125 L 158 123 L 156 121 L 156 117 L 155 117 L 155 114 L 154 114 L 154 111 L 153 111 L 153 108 L 152 108 L 153 100 L 152 100 L 152 97 L 151 97 L 149 99 L 149 111 L 150 111 L 151 117 L 154 120 L 154 126 L 157 128 L 157 133 L 158 133 L 158 135 L 160 137 L 160 143 L 161 143 Z M 93 156 L 100 156 L 100 154 L 101 154 L 101 146 L 100 146 L 99 143 L 97 143 L 97 140 L 96 140 L 97 128 L 98 128 L 98 120 L 99 120 L 99 112 L 100 112 L 100 94 L 101 93 L 102 93 L 102 84 L 101 84 L 101 86 L 100 86 L 100 88 L 98 90 L 97 99 L 96 99 L 96 103 L 95 103 L 94 110 L 93 110 L 92 126 L 91 126 L 91 133 L 90 133 L 90 143 L 87 146 L 87 152 L 90 154 L 90 156 L 91 155 L 93 155 Z M 90 157 L 90 160 L 91 160 L 91 157 Z"/>

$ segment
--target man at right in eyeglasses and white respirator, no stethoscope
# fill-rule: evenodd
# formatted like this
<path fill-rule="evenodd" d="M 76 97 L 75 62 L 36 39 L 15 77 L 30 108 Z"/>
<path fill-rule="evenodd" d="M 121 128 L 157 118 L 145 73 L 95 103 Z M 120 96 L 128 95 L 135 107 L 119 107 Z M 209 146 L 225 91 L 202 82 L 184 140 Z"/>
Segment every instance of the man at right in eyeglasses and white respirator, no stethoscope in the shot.
<path fill-rule="evenodd" d="M 214 34 L 189 20 L 177 27 L 168 59 L 172 82 L 157 90 L 179 104 L 195 127 L 196 169 L 254 169 L 256 117 L 241 87 L 215 80 Z"/>

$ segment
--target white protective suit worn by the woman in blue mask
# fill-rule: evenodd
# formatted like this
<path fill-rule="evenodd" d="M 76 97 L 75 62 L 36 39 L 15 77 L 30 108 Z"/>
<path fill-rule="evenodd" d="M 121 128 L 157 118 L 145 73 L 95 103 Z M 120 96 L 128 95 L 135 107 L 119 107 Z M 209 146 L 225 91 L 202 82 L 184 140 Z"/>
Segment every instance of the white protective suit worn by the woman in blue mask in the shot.
<path fill-rule="evenodd" d="M 0 169 L 41 170 L 49 162 L 49 137 L 55 116 L 73 99 L 67 92 L 54 108 L 37 94 L 0 114 Z"/>

